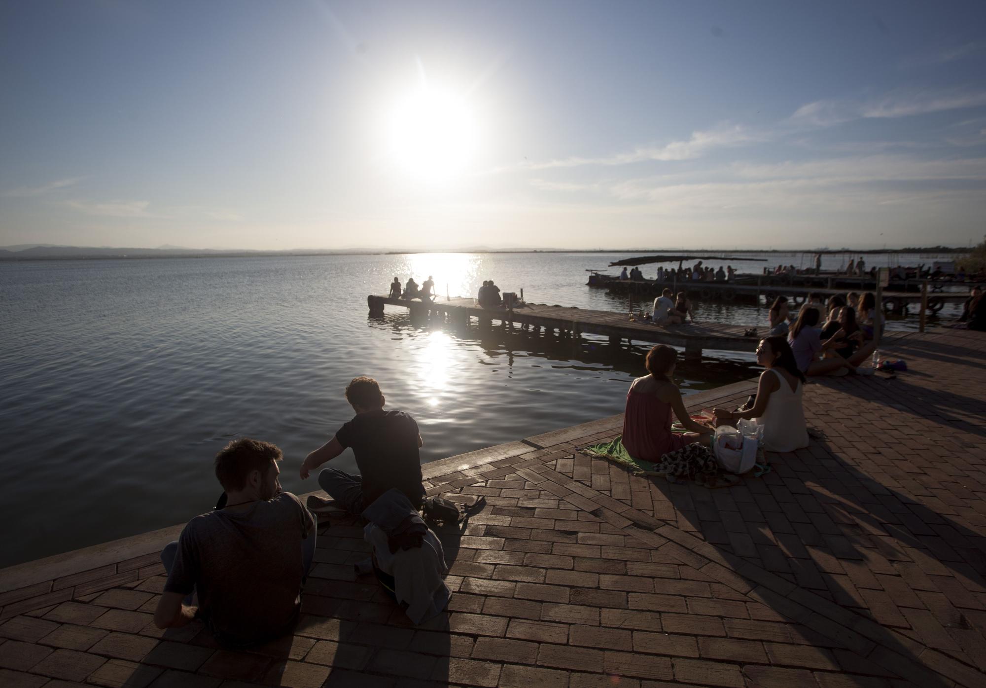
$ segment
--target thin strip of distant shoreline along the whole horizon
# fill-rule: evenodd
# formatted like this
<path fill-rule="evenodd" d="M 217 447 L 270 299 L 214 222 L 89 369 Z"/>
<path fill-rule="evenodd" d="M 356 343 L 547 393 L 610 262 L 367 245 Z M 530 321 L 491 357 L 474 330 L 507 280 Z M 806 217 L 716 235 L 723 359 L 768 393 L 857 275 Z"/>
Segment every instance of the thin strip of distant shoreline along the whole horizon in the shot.
<path fill-rule="evenodd" d="M 975 253 L 978 247 L 968 246 L 905 246 L 903 248 L 732 248 L 731 251 L 752 254 L 792 254 L 853 253 L 873 255 L 882 253 L 935 253 L 967 255 Z M 36 245 L 18 250 L 0 248 L 0 260 L 84 260 L 84 259 L 140 259 L 140 258 L 252 258 L 307 255 L 410 255 L 418 253 L 669 253 L 687 251 L 689 253 L 710 253 L 726 249 L 697 248 L 487 248 L 448 249 L 448 250 L 374 250 L 371 248 L 329 249 L 329 248 L 289 248 L 285 250 L 250 250 L 239 248 L 131 248 L 104 246 L 51 246 Z"/>

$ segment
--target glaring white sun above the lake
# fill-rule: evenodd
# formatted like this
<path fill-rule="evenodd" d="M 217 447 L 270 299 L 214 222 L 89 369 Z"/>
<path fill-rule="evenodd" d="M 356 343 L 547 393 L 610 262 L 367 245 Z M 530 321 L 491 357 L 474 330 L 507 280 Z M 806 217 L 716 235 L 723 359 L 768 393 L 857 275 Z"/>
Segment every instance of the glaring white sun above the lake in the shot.
<path fill-rule="evenodd" d="M 465 99 L 420 84 L 393 108 L 389 152 L 403 172 L 425 182 L 447 182 L 465 168 L 475 145 Z"/>

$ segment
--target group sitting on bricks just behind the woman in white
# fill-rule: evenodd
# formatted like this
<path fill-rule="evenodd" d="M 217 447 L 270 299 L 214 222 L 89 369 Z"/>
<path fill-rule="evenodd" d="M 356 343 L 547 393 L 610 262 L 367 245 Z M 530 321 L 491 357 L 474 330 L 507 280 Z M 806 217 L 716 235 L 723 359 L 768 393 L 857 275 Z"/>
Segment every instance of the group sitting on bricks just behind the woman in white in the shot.
<path fill-rule="evenodd" d="M 811 293 L 795 316 L 787 297 L 778 297 L 770 307 L 770 335 L 787 338 L 807 376 L 869 375 L 873 369 L 860 365 L 877 348 L 875 333 L 883 318 L 876 303 L 871 292 L 836 294 L 827 304 L 821 294 Z"/>

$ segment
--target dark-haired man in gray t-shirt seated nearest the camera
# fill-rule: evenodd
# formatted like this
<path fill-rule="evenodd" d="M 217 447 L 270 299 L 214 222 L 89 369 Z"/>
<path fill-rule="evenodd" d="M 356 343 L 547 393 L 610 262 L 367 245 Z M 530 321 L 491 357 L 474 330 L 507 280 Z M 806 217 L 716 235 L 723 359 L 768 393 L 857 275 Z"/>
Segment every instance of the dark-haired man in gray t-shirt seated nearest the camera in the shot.
<path fill-rule="evenodd" d="M 237 440 L 216 454 L 227 503 L 195 516 L 162 553 L 168 582 L 154 613 L 158 628 L 202 618 L 226 646 L 262 643 L 288 632 L 315 554 L 315 520 L 281 492 L 281 450 Z M 198 608 L 188 606 L 198 593 Z"/>

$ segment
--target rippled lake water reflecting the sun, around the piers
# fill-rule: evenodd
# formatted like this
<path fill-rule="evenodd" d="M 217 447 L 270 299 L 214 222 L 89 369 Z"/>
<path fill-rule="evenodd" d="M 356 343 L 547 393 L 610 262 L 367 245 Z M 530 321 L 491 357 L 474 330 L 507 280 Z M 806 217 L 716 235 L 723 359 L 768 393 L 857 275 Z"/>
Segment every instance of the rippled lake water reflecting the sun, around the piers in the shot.
<path fill-rule="evenodd" d="M 587 268 L 626 256 L 0 262 L 0 566 L 206 511 L 220 492 L 212 457 L 237 437 L 284 450 L 285 490 L 317 489 L 298 466 L 352 416 L 343 389 L 358 375 L 417 419 L 425 461 L 619 413 L 647 347 L 412 324 L 403 309 L 373 319 L 366 297 L 386 293 L 394 275 L 431 274 L 442 296 L 494 279 L 529 302 L 625 311 L 624 299 L 585 283 Z M 758 272 L 800 256 L 770 258 L 734 264 Z M 763 325 L 766 311 L 698 305 L 696 317 Z M 677 376 L 691 392 L 756 373 L 751 355 L 713 352 Z M 348 451 L 333 465 L 355 467 Z"/>

